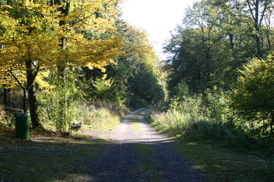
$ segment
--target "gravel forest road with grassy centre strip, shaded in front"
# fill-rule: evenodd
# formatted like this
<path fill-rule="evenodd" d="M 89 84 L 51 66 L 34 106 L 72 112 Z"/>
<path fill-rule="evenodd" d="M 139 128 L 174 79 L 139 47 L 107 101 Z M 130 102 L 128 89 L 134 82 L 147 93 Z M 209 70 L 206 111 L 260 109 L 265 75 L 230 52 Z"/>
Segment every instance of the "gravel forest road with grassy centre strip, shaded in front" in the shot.
<path fill-rule="evenodd" d="M 147 123 L 146 112 L 138 109 L 103 133 L 113 142 L 93 168 L 92 181 L 208 181 L 175 152 L 171 139 Z"/>

